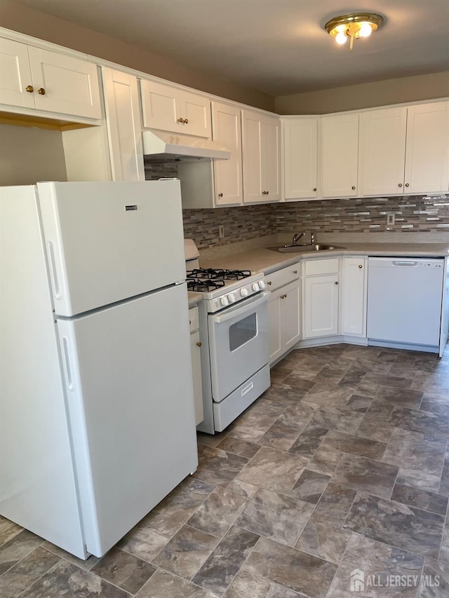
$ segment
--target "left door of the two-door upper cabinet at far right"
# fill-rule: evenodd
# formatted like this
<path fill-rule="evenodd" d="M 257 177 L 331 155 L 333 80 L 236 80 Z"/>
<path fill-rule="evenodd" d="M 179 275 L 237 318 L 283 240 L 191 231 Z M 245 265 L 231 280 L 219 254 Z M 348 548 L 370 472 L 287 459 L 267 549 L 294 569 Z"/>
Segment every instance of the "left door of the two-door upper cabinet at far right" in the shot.
<path fill-rule="evenodd" d="M 406 108 L 386 108 L 363 113 L 363 195 L 403 193 L 406 126 Z"/>

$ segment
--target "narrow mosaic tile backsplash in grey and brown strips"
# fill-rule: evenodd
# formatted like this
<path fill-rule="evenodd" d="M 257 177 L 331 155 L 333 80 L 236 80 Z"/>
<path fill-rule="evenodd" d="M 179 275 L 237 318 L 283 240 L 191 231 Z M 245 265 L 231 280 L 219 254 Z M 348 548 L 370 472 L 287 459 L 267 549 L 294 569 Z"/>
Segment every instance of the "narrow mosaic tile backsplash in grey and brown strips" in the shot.
<path fill-rule="evenodd" d="M 387 214 L 394 225 L 387 226 Z M 449 194 L 390 198 L 344 198 L 183 210 L 185 236 L 199 249 L 298 230 L 314 233 L 448 233 Z M 219 238 L 219 226 L 225 237 Z M 428 235 L 427 241 L 429 240 Z"/>

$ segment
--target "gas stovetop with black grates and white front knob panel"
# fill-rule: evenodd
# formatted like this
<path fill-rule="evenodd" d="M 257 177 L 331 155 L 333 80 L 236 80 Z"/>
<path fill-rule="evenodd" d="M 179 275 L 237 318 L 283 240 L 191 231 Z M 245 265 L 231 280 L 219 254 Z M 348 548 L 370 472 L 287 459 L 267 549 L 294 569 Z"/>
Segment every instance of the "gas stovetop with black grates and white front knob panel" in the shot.
<path fill-rule="evenodd" d="M 246 299 L 265 287 L 263 274 L 253 274 L 250 270 L 198 268 L 188 270 L 186 275 L 187 289 L 203 295 L 209 313 Z"/>

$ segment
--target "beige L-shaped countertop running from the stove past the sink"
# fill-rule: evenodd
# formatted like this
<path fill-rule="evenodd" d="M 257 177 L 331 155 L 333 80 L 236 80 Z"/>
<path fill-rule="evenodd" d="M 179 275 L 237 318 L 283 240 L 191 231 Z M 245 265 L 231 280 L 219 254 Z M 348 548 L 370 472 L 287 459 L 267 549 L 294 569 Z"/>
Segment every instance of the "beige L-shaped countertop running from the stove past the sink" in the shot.
<path fill-rule="evenodd" d="M 311 258 L 340 255 L 392 257 L 446 257 L 449 255 L 449 245 L 445 243 L 344 243 L 344 247 L 343 243 L 338 243 L 338 245 L 342 249 L 320 252 L 303 250 L 286 254 L 261 248 L 204 260 L 201 259 L 200 254 L 199 261 L 203 268 L 251 270 L 254 273 L 268 274 L 302 259 Z"/>

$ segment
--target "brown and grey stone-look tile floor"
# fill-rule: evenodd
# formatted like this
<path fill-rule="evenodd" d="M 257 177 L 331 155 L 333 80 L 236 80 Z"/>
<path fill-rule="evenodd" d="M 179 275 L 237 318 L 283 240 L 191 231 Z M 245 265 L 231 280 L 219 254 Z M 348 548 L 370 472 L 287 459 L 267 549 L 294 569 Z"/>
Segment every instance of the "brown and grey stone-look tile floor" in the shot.
<path fill-rule="evenodd" d="M 293 351 L 102 559 L 0 517 L 0 596 L 448 598 L 447 353 Z"/>

